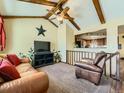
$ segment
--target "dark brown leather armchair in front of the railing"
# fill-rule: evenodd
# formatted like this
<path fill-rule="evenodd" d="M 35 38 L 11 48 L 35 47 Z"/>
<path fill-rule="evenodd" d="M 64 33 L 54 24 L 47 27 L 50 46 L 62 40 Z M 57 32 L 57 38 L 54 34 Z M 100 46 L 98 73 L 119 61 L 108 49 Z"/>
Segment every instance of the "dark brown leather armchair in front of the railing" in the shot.
<path fill-rule="evenodd" d="M 77 62 L 75 63 L 75 74 L 77 78 L 86 79 L 95 85 L 101 80 L 103 68 L 106 60 L 106 53 L 97 53 L 93 62 Z"/>

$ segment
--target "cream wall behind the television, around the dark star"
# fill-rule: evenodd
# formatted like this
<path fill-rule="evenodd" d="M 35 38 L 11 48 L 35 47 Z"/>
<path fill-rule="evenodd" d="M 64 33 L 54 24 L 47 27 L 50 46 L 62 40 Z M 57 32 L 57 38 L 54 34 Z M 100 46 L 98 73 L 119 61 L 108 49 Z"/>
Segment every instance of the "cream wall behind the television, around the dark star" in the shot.
<path fill-rule="evenodd" d="M 37 36 L 36 27 L 42 24 L 45 37 Z M 50 41 L 51 50 L 57 49 L 57 28 L 44 19 L 6 19 L 6 49 L 2 53 L 27 53 L 34 40 Z"/>

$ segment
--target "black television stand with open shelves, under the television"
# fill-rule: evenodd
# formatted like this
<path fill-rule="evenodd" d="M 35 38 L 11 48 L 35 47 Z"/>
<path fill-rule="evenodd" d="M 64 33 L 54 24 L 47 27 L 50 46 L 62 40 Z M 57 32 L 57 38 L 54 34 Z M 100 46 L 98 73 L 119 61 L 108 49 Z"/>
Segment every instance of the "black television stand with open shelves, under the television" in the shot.
<path fill-rule="evenodd" d="M 38 68 L 53 64 L 53 55 L 51 52 L 36 52 L 34 53 L 33 67 Z"/>

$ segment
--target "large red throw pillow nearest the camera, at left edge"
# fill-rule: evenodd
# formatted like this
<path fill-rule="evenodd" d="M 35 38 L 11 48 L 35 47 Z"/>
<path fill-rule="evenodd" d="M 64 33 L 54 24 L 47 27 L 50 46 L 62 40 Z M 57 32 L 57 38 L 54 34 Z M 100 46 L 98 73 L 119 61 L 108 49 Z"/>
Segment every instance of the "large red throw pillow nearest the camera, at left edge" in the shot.
<path fill-rule="evenodd" d="M 16 70 L 15 66 L 5 59 L 3 59 L 0 64 L 0 76 L 5 81 L 10 81 L 10 80 L 20 78 L 20 75 Z"/>

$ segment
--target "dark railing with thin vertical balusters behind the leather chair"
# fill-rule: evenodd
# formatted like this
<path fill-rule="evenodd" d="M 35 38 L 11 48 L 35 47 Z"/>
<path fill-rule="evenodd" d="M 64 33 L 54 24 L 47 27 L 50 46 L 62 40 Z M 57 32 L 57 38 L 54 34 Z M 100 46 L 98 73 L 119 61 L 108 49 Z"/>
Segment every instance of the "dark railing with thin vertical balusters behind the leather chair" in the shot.
<path fill-rule="evenodd" d="M 70 65 L 74 65 L 76 61 L 81 61 L 83 58 L 95 59 L 96 52 L 86 51 L 66 51 L 66 61 Z M 119 52 L 107 53 L 107 58 L 104 68 L 105 76 L 110 76 L 113 79 L 120 80 L 120 54 Z"/>

